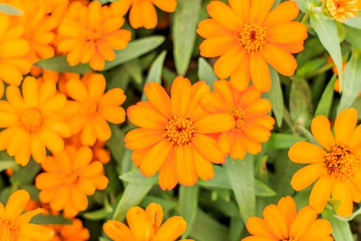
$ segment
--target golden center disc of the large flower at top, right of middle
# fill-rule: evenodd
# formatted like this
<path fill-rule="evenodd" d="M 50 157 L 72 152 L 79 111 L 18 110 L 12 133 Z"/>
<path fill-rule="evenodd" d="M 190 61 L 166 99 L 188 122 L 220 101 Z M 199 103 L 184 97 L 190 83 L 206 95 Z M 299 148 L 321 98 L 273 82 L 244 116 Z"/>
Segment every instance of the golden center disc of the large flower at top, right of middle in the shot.
<path fill-rule="evenodd" d="M 261 27 L 259 23 L 245 23 L 239 32 L 238 41 L 248 53 L 255 52 L 265 45 L 266 34 L 267 28 Z"/>

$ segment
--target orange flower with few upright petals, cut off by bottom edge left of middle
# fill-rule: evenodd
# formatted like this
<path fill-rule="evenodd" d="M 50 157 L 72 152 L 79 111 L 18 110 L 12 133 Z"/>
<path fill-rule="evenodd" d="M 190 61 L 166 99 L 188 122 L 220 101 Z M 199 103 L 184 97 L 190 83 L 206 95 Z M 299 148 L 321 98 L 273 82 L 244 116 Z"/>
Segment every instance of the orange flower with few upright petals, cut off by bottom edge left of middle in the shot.
<path fill-rule="evenodd" d="M 162 207 L 154 202 L 146 209 L 131 207 L 127 212 L 128 226 L 116 220 L 108 220 L 103 230 L 111 240 L 155 241 L 176 240 L 186 231 L 186 221 L 181 216 L 173 216 L 163 222 Z"/>

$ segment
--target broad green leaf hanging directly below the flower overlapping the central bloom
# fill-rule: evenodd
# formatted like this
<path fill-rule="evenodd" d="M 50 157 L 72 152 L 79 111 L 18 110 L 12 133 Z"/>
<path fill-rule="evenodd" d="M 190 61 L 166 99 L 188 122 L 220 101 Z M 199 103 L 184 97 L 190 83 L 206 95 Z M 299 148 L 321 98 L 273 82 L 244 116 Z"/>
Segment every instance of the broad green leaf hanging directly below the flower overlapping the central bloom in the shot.
<path fill-rule="evenodd" d="M 223 168 L 230 180 L 241 218 L 246 221 L 256 213 L 254 193 L 253 156 L 247 154 L 243 160 L 226 158 Z"/>

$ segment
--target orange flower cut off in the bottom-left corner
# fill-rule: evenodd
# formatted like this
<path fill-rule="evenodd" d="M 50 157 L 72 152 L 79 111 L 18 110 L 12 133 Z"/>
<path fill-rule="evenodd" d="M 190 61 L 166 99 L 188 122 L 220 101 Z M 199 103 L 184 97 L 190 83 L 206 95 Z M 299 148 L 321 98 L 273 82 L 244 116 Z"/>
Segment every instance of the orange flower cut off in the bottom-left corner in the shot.
<path fill-rule="evenodd" d="M 6 206 L 0 203 L 0 238 L 1 240 L 52 240 L 54 231 L 38 224 L 29 223 L 32 217 L 42 213 L 43 209 L 35 209 L 23 213 L 30 200 L 25 190 L 11 194 Z"/>

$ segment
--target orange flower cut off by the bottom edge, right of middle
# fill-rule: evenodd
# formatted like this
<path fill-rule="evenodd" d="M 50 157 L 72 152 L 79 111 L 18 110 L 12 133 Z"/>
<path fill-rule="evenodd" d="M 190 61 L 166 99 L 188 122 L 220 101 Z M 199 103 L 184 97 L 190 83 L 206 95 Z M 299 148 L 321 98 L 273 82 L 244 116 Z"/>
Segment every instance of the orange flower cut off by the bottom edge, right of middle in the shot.
<path fill-rule="evenodd" d="M 332 227 L 328 220 L 317 219 L 316 211 L 309 206 L 297 212 L 294 199 L 281 198 L 277 205 L 268 205 L 263 218 L 248 218 L 246 227 L 251 236 L 242 241 L 332 241 Z"/>

